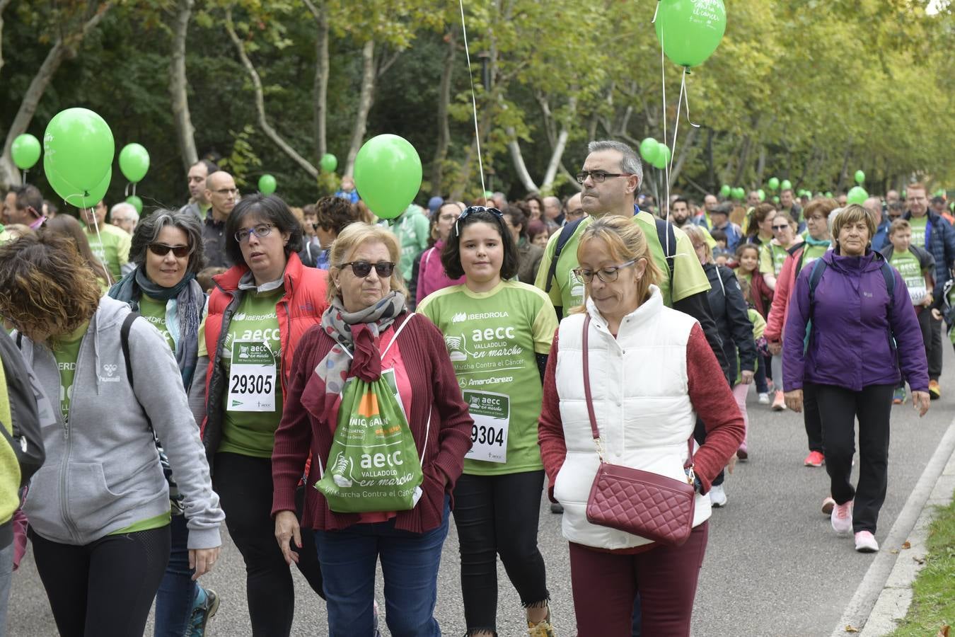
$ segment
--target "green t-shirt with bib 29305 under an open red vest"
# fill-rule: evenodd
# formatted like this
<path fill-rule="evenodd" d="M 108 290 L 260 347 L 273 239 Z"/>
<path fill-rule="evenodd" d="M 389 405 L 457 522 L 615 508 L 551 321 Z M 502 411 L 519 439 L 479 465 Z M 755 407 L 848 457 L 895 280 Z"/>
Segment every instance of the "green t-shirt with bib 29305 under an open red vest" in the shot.
<path fill-rule="evenodd" d="M 282 419 L 282 340 L 275 306 L 285 287 L 246 290 L 223 341 L 228 386 L 219 451 L 271 457 Z"/>

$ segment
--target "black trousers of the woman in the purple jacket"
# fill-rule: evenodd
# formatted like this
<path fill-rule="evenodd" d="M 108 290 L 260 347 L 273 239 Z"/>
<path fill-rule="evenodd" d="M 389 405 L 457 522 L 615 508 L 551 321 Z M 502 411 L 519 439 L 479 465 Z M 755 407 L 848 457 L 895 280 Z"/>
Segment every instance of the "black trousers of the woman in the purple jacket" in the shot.
<path fill-rule="evenodd" d="M 879 510 L 888 486 L 889 415 L 893 385 L 869 385 L 853 392 L 834 385 L 816 385 L 822 416 L 822 453 L 832 482 L 833 499 L 855 499 L 854 532 L 876 532 Z M 859 418 L 859 484 L 852 486 L 852 457 L 856 452 Z"/>

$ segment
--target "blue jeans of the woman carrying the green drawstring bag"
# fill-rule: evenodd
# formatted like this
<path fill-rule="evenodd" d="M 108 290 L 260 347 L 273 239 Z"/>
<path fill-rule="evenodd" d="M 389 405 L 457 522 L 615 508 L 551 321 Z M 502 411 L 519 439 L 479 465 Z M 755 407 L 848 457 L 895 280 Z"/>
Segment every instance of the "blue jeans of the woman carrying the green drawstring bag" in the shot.
<path fill-rule="evenodd" d="M 394 520 L 315 531 L 329 609 L 329 637 L 373 634 L 375 563 L 385 577 L 385 617 L 393 637 L 439 637 L 437 568 L 448 536 L 449 499 L 441 525 L 426 533 L 394 528 Z"/>

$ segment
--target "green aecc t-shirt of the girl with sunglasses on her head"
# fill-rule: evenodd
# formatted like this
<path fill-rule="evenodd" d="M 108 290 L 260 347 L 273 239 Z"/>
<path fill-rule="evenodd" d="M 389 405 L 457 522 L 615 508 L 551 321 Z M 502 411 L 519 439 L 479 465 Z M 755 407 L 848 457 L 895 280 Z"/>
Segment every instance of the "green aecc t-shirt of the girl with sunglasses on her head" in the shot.
<path fill-rule="evenodd" d="M 542 391 L 535 353 L 550 352 L 557 329 L 547 295 L 517 281 L 502 281 L 488 292 L 453 286 L 429 295 L 418 311 L 444 334 L 475 419 L 464 473 L 492 476 L 541 469 Z"/>

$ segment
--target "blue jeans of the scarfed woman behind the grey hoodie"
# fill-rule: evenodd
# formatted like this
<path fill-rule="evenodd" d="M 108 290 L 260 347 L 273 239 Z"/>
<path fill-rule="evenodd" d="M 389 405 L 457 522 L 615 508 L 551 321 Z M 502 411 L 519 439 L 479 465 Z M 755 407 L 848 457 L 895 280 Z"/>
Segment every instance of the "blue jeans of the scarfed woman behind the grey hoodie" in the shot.
<path fill-rule="evenodd" d="M 189 529 L 186 528 L 185 516 L 173 516 L 169 530 L 172 549 L 156 594 L 156 629 L 153 633 L 156 637 L 182 637 L 185 634 L 198 592 L 198 584 L 192 581 L 192 569 L 189 568 Z"/>

